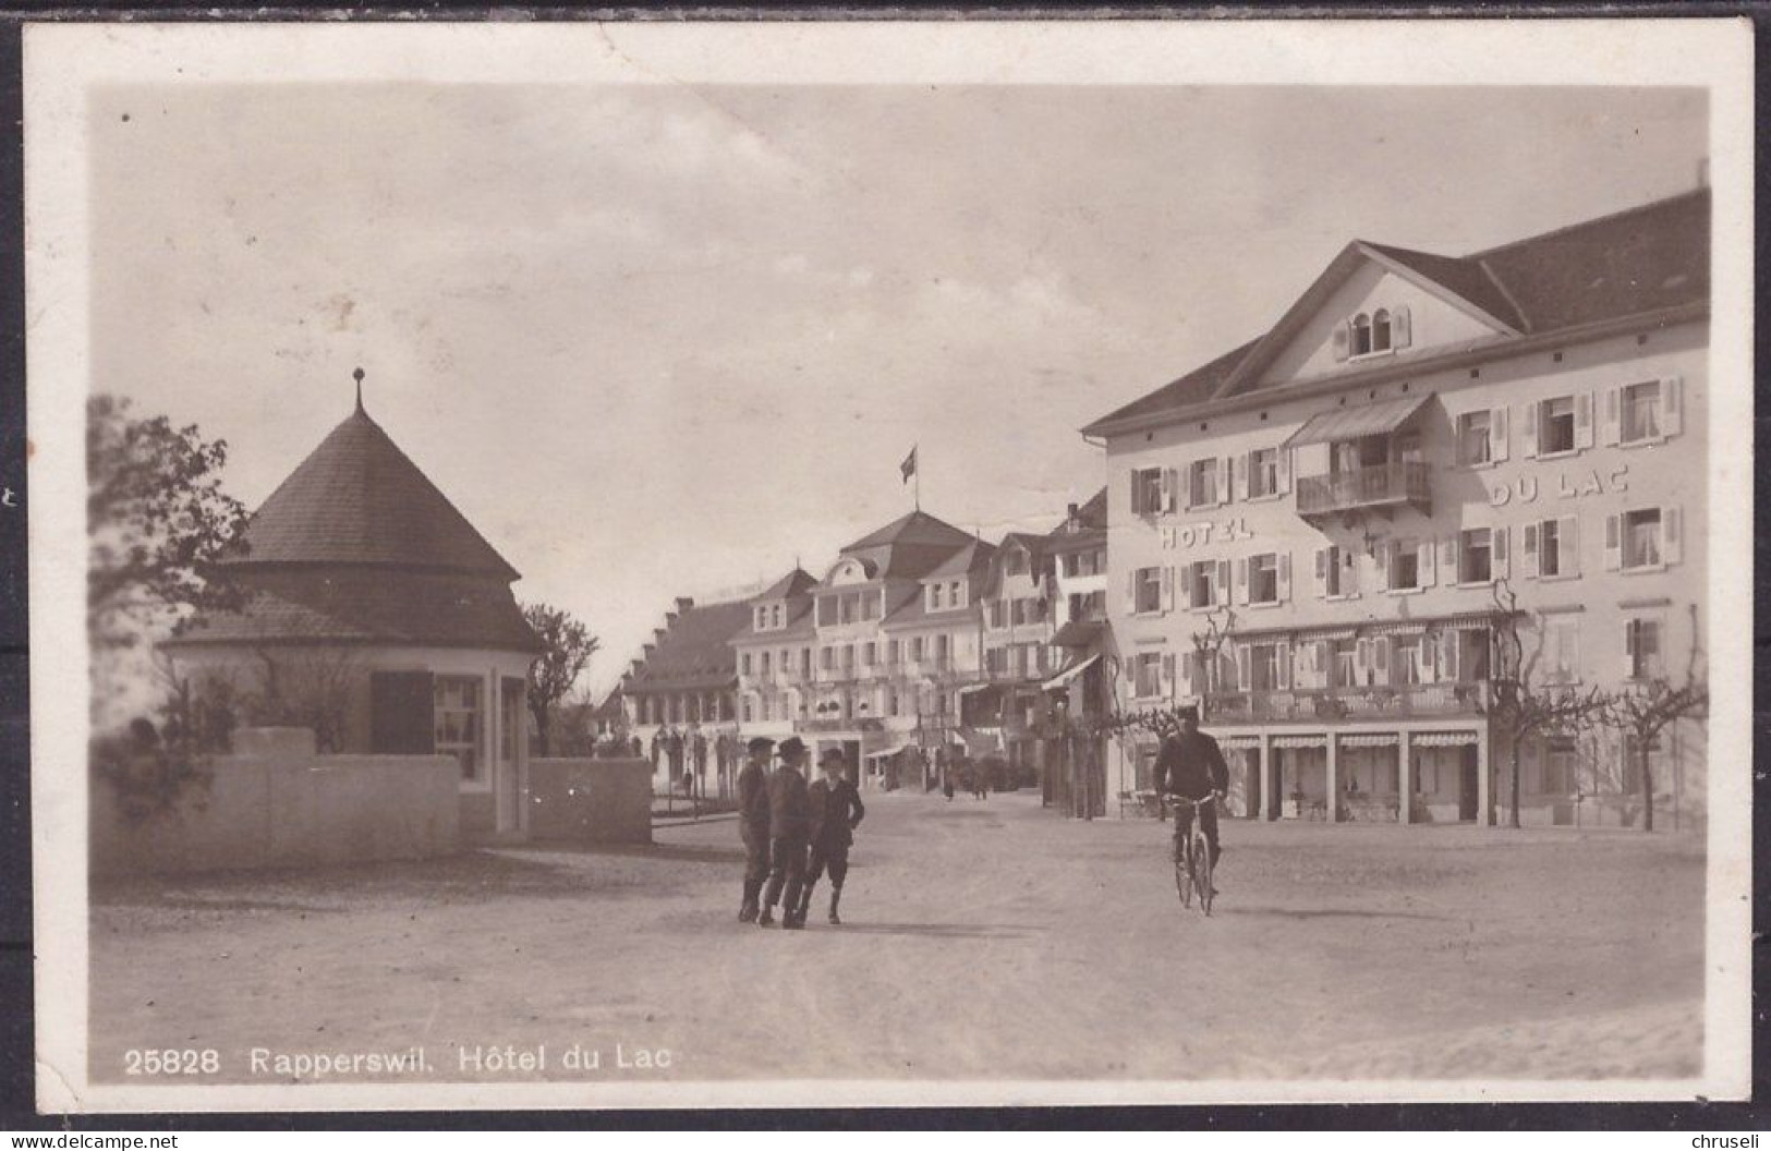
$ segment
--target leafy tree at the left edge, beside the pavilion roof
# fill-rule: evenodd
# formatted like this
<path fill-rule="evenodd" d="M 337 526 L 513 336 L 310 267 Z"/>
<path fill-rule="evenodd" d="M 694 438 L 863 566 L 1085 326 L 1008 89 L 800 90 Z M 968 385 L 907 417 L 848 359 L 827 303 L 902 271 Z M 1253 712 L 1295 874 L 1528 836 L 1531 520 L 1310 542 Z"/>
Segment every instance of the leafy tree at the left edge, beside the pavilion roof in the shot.
<path fill-rule="evenodd" d="M 197 425 L 136 418 L 129 400 L 87 400 L 87 625 L 96 646 L 131 646 L 142 629 L 186 607 L 230 604 L 207 577 L 241 547 L 246 508 L 221 489 L 227 441 Z"/>

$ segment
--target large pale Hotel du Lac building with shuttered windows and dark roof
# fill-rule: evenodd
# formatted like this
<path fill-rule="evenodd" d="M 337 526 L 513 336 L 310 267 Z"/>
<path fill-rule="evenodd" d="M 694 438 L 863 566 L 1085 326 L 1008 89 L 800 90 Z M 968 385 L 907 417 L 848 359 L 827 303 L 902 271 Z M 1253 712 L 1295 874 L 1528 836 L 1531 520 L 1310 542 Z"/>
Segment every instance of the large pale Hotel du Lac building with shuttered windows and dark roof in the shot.
<path fill-rule="evenodd" d="M 1707 313 L 1707 191 L 1461 259 L 1350 244 L 1266 335 L 1084 429 L 1118 707 L 1201 705 L 1236 815 L 1493 822 L 1496 639 L 1539 687 L 1700 660 Z M 1153 753 L 1116 742 L 1109 786 Z M 1528 740 L 1521 820 L 1636 822 L 1624 753 Z M 1695 719 L 1661 735 L 1658 809 L 1702 818 L 1704 753 Z"/>

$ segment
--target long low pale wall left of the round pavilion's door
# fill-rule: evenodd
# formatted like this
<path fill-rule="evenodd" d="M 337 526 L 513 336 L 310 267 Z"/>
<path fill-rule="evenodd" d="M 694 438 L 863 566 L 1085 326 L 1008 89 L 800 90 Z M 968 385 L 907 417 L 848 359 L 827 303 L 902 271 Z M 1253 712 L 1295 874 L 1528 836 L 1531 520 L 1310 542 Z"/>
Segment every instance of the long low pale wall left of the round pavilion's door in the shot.
<path fill-rule="evenodd" d="M 209 783 L 131 818 L 90 786 L 94 875 L 166 875 L 429 859 L 460 846 L 453 756 L 213 756 Z"/>

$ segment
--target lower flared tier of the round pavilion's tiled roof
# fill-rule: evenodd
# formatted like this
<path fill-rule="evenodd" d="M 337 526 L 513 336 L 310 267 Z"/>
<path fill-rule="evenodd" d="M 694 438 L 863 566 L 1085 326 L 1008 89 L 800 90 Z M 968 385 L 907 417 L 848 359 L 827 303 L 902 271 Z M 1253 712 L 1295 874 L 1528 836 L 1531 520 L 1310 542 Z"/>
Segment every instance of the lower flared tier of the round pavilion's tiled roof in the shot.
<path fill-rule="evenodd" d="M 468 572 L 386 572 L 354 565 L 239 568 L 236 611 L 211 611 L 177 645 L 377 643 L 538 652 L 510 586 Z"/>

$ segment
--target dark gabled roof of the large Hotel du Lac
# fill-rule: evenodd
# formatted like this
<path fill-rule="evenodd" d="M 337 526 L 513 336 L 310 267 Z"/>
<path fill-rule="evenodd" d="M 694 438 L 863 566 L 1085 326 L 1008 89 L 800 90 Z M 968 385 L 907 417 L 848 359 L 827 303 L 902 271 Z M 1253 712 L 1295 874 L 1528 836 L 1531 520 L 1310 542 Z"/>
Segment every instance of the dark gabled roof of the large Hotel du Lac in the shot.
<path fill-rule="evenodd" d="M 1206 407 L 1254 382 L 1328 292 L 1374 260 L 1491 322 L 1495 345 L 1521 335 L 1578 329 L 1709 303 L 1709 189 L 1587 220 L 1466 257 L 1353 241 L 1261 338 L 1211 359 L 1082 429 L 1107 436 L 1126 421 Z M 1422 367 L 1445 349 L 1420 349 Z"/>

